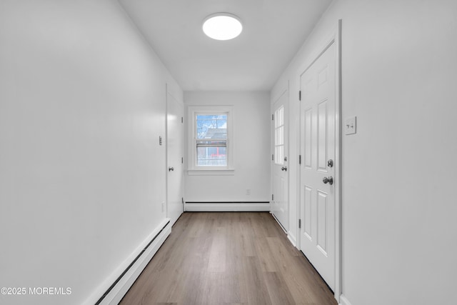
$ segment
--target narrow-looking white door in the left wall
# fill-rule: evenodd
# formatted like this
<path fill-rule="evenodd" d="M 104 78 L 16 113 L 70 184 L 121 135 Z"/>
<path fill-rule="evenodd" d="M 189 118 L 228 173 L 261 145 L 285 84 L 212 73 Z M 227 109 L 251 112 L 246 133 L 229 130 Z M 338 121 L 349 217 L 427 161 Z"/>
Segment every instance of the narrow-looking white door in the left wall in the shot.
<path fill-rule="evenodd" d="M 167 119 L 166 119 L 166 160 L 167 160 L 167 187 L 166 187 L 166 216 L 174 224 L 183 212 L 183 164 L 184 153 L 184 106 L 174 96 L 167 92 Z"/>

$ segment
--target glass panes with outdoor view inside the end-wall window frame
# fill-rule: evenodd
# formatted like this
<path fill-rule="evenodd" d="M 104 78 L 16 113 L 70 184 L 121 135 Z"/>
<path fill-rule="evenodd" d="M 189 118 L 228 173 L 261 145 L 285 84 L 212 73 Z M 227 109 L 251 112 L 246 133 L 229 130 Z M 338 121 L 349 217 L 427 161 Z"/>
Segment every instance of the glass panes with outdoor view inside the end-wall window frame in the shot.
<path fill-rule="evenodd" d="M 227 166 L 227 114 L 196 115 L 197 166 Z"/>

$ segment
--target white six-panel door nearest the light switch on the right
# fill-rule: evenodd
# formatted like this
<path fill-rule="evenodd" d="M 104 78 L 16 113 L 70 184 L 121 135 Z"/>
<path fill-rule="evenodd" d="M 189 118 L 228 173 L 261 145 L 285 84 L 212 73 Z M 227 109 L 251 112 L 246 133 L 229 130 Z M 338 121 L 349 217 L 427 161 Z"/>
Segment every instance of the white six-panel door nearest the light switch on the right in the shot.
<path fill-rule="evenodd" d="M 300 248 L 333 291 L 336 249 L 335 51 L 333 42 L 300 76 Z"/>

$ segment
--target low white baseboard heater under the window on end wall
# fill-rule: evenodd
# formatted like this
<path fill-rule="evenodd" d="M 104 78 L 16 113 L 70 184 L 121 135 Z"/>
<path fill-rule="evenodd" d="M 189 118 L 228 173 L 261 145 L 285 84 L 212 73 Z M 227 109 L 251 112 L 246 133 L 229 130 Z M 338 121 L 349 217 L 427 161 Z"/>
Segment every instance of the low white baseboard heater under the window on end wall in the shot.
<path fill-rule="evenodd" d="M 186 211 L 270 211 L 269 202 L 194 202 L 184 204 Z"/>

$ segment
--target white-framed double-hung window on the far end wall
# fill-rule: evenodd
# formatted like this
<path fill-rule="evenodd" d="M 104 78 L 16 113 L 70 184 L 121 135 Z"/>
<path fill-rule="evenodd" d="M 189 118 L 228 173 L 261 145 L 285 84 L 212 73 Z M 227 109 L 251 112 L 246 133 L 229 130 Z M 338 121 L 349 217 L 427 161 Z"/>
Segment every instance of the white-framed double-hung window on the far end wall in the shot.
<path fill-rule="evenodd" d="M 233 171 L 231 116 L 231 107 L 189 106 L 189 174 Z"/>

